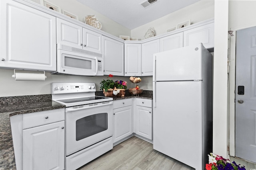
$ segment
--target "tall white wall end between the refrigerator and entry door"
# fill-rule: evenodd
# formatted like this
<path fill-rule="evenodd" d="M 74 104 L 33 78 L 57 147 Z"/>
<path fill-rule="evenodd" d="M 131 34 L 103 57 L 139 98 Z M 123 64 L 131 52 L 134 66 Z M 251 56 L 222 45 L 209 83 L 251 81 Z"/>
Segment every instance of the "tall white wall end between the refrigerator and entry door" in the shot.
<path fill-rule="evenodd" d="M 213 152 L 228 157 L 228 0 L 214 4 Z"/>

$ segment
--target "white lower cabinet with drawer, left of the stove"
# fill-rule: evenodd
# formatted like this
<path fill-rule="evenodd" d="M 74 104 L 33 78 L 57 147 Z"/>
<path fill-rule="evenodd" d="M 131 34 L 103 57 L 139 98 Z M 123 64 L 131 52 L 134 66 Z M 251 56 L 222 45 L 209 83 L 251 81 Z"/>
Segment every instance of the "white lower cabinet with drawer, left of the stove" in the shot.
<path fill-rule="evenodd" d="M 59 118 L 58 122 L 52 123 L 56 117 Z M 23 115 L 23 127 L 29 127 L 30 121 L 38 122 L 39 125 L 23 129 L 23 170 L 64 170 L 64 119 L 64 109 Z M 49 124 L 46 124 L 47 121 Z"/>

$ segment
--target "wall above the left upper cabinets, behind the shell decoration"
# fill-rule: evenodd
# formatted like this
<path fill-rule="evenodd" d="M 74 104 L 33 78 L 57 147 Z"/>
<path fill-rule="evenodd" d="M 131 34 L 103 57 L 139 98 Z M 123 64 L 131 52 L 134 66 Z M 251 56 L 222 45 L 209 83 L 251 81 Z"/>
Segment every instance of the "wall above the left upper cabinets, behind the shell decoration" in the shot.
<path fill-rule="evenodd" d="M 40 0 L 31 0 L 40 4 Z M 70 12 L 78 16 L 78 20 L 84 22 L 84 17 L 87 15 L 95 15 L 96 18 L 102 24 L 102 31 L 110 33 L 116 37 L 119 35 L 130 35 L 130 29 L 116 23 L 113 20 L 103 16 L 102 14 L 92 10 L 91 8 L 85 6 L 84 4 L 76 0 L 47 0 L 47 2 L 52 3 L 53 5 L 59 6 L 62 10 Z"/>

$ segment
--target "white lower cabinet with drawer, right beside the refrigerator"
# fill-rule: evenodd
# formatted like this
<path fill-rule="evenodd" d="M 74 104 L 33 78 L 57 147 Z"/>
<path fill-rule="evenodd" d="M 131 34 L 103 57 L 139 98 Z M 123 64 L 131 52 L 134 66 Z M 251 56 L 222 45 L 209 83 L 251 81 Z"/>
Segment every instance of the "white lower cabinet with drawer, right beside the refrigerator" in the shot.
<path fill-rule="evenodd" d="M 135 133 L 152 140 L 152 100 L 136 98 Z"/>

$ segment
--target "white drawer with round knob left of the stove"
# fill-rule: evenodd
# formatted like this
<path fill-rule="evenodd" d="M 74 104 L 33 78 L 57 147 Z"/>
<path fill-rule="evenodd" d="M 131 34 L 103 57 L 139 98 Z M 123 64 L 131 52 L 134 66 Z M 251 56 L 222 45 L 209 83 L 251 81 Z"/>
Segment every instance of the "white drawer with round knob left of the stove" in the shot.
<path fill-rule="evenodd" d="M 65 120 L 65 109 L 38 111 L 23 115 L 23 129 Z"/>

